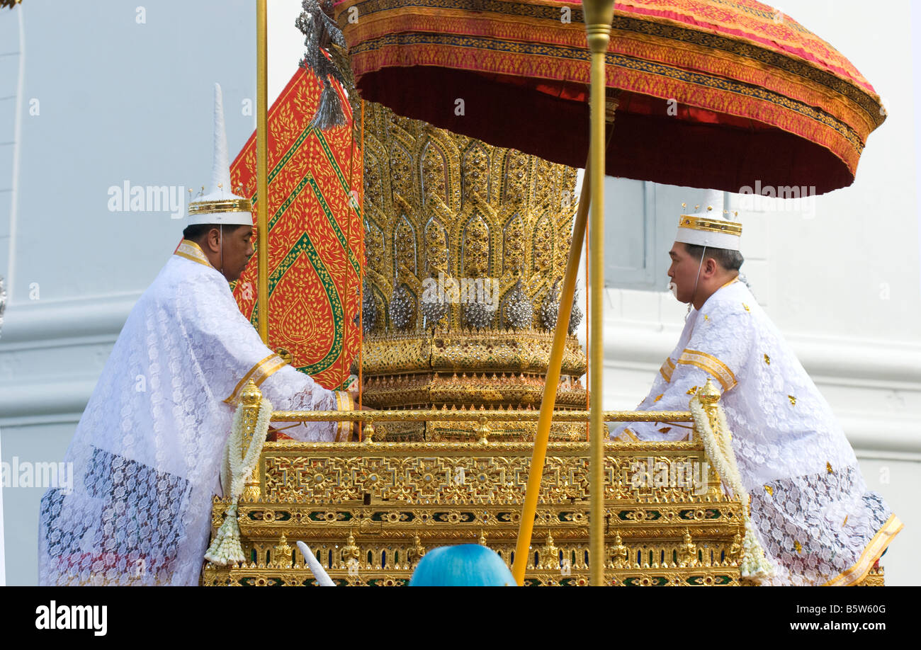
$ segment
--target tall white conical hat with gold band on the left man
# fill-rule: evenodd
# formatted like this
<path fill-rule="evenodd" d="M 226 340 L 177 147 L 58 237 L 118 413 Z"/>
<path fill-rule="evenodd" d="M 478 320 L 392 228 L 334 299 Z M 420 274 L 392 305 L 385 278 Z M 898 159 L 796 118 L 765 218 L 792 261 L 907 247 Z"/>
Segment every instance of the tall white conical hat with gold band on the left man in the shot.
<path fill-rule="evenodd" d="M 252 203 L 230 191 L 224 102 L 219 84 L 215 84 L 215 159 L 211 168 L 211 190 L 189 203 L 188 226 L 198 224 L 252 226 Z"/>

